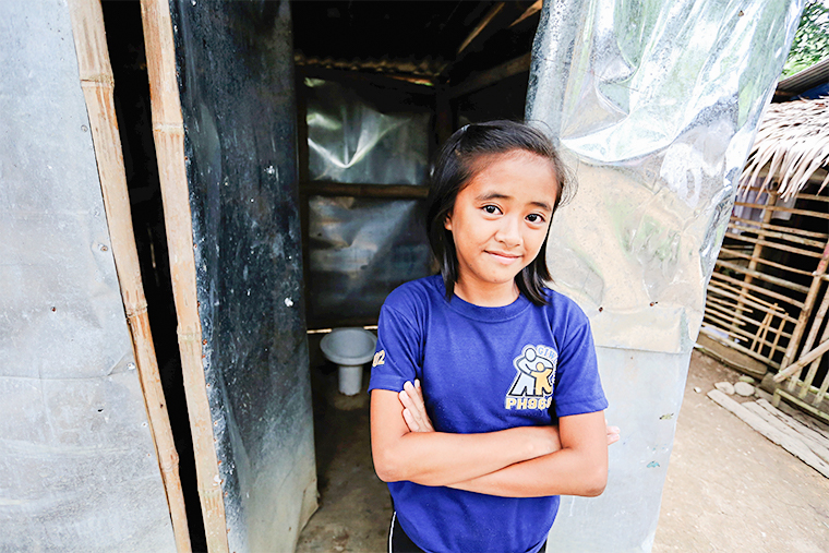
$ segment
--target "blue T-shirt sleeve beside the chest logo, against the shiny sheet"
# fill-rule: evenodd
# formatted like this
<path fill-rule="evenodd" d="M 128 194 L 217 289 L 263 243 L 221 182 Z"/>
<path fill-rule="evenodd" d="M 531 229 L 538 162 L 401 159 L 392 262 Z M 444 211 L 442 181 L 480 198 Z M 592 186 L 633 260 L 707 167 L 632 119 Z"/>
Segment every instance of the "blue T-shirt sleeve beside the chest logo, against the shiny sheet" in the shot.
<path fill-rule="evenodd" d="M 608 399 L 599 377 L 590 322 L 580 310 L 567 318 L 566 339 L 560 346 L 556 368 L 555 414 L 603 411 Z"/>

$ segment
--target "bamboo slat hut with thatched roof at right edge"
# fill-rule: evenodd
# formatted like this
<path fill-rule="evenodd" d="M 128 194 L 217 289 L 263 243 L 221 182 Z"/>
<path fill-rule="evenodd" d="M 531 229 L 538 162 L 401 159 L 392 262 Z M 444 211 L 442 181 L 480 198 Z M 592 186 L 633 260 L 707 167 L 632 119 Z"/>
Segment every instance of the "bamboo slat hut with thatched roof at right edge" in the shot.
<path fill-rule="evenodd" d="M 700 344 L 781 397 L 829 420 L 827 100 L 771 104 L 708 287 Z"/>

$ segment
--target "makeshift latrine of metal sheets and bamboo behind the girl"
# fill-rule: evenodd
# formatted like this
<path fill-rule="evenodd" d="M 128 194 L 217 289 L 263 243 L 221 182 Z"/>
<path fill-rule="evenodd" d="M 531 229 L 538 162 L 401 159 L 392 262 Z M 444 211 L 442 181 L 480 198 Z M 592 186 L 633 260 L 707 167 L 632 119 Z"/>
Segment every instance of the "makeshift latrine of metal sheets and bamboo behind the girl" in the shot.
<path fill-rule="evenodd" d="M 577 203 L 555 221 L 549 260 L 556 286 L 591 317 L 609 417 L 627 436 L 613 452 L 605 496 L 565 502 L 550 550 L 652 543 L 701 290 L 800 2 L 560 1 L 540 22 L 539 2 L 460 4 L 454 28 L 466 39 L 453 56 L 478 61 L 453 73 L 422 53 L 405 63 L 300 55 L 288 2 L 142 2 L 211 552 L 293 548 L 316 502 L 307 327 L 371 323 L 384 292 L 430 271 L 417 223 L 429 154 L 460 124 L 520 117 L 528 82 L 529 117 L 543 121 L 581 180 Z M 93 108 L 83 112 L 74 63 L 84 49 L 62 40 L 83 33 L 61 2 L 2 10 L 2 51 L 19 56 L 0 94 L 15 116 L 4 121 L 37 122 L 2 129 L 14 147 L 0 156 L 0 229 L 13 238 L 2 241 L 11 262 L 0 271 L 3 288 L 19 292 L 2 296 L 0 384 L 4 397 L 23 398 L 4 404 L 3 462 L 16 474 L 5 488 L 47 506 L 33 515 L 3 504 L 15 529 L 3 543 L 170 551 L 179 537 L 161 478 L 170 467 L 152 455 L 160 441 L 142 411 L 151 409 L 124 323 L 124 305 L 132 325 L 142 304 L 119 300 L 118 221 L 108 216 L 108 233 L 93 166 L 101 169 L 98 148 L 115 137 L 95 139 L 109 143 L 95 144 L 95 158 Z M 529 26 L 526 48 L 483 51 L 493 22 Z M 394 79 L 365 74 L 379 67 Z M 85 77 L 91 96 L 106 95 L 98 84 L 111 80 L 101 75 Z M 32 244 L 67 266 L 64 278 L 40 268 Z M 127 276 L 118 265 L 125 296 Z M 80 483 L 75 493 L 56 497 L 65 481 Z M 81 497 L 91 500 L 79 519 Z"/>

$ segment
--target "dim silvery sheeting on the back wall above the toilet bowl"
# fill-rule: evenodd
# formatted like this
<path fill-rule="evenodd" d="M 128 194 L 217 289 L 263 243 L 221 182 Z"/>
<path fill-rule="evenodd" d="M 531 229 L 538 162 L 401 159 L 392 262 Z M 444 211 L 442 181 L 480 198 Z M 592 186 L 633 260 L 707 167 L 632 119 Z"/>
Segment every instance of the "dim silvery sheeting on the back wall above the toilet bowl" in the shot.
<path fill-rule="evenodd" d="M 311 180 L 424 184 L 434 92 L 305 79 Z M 423 200 L 310 196 L 309 322 L 372 320 L 403 282 L 432 273 Z"/>

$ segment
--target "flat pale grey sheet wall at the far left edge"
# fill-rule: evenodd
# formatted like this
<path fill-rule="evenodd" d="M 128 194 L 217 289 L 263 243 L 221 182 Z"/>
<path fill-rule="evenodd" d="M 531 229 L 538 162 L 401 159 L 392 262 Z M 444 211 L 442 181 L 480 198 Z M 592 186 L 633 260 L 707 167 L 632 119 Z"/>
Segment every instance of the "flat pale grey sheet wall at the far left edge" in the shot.
<path fill-rule="evenodd" d="M 0 60 L 0 550 L 173 552 L 67 3 Z"/>

